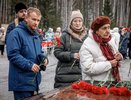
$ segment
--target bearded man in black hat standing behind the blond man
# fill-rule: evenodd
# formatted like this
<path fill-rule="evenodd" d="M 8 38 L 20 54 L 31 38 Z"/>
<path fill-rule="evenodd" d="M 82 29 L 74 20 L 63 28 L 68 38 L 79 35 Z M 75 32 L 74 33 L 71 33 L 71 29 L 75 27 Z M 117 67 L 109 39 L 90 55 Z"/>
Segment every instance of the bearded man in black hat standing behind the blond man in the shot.
<path fill-rule="evenodd" d="M 16 13 L 16 18 L 14 19 L 13 22 L 11 22 L 7 28 L 6 31 L 6 37 L 5 40 L 7 40 L 7 37 L 9 35 L 9 33 L 16 27 L 18 26 L 18 24 L 24 20 L 27 12 L 27 7 L 25 4 L 23 4 L 22 2 L 19 2 L 15 5 L 15 13 Z"/>

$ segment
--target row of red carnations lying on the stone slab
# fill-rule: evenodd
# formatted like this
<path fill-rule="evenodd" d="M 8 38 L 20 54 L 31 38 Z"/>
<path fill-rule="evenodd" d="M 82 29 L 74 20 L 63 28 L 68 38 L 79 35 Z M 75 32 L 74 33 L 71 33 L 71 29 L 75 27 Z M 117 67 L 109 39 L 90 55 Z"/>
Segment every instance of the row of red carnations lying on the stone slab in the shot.
<path fill-rule="evenodd" d="M 85 90 L 87 92 L 92 92 L 97 95 L 102 94 L 114 94 L 118 96 L 130 96 L 131 82 L 118 82 L 117 84 L 113 82 L 99 82 L 98 84 L 91 84 L 85 81 L 75 82 L 72 85 L 72 89 Z"/>

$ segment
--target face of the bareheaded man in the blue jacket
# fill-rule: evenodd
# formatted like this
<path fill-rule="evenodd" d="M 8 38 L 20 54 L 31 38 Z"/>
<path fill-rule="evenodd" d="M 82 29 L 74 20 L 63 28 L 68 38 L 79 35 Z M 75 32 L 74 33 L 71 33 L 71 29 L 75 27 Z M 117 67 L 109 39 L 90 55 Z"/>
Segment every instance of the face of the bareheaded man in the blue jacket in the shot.
<path fill-rule="evenodd" d="M 38 25 L 40 23 L 41 16 L 37 15 L 35 12 L 30 13 L 27 18 L 25 18 L 25 21 L 27 22 L 27 25 L 32 29 L 36 30 L 38 28 Z"/>

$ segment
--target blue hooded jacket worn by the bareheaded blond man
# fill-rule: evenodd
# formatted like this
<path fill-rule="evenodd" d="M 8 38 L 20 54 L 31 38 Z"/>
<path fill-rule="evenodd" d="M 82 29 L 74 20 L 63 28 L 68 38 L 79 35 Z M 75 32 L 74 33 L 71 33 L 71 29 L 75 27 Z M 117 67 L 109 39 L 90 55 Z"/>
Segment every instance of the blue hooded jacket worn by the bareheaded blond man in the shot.
<path fill-rule="evenodd" d="M 34 63 L 39 64 L 37 57 L 40 54 L 38 34 L 32 32 L 24 21 L 21 22 L 7 38 L 10 91 L 38 90 L 41 73 L 34 73 L 31 68 Z"/>

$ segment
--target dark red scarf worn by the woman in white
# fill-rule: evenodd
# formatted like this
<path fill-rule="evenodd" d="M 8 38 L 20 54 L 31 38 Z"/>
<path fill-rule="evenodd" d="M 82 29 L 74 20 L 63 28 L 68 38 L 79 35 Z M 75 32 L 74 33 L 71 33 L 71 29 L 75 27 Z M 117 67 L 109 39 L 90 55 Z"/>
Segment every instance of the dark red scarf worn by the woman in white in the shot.
<path fill-rule="evenodd" d="M 112 48 L 108 44 L 108 42 L 111 40 L 111 36 L 109 38 L 104 39 L 98 36 L 97 34 L 93 33 L 93 38 L 96 42 L 100 43 L 100 49 L 103 55 L 107 58 L 107 60 L 115 59 Z M 117 67 L 112 67 L 112 75 L 115 81 L 120 81 L 120 74 L 119 74 L 118 67 L 119 67 L 119 63 L 117 64 Z"/>

